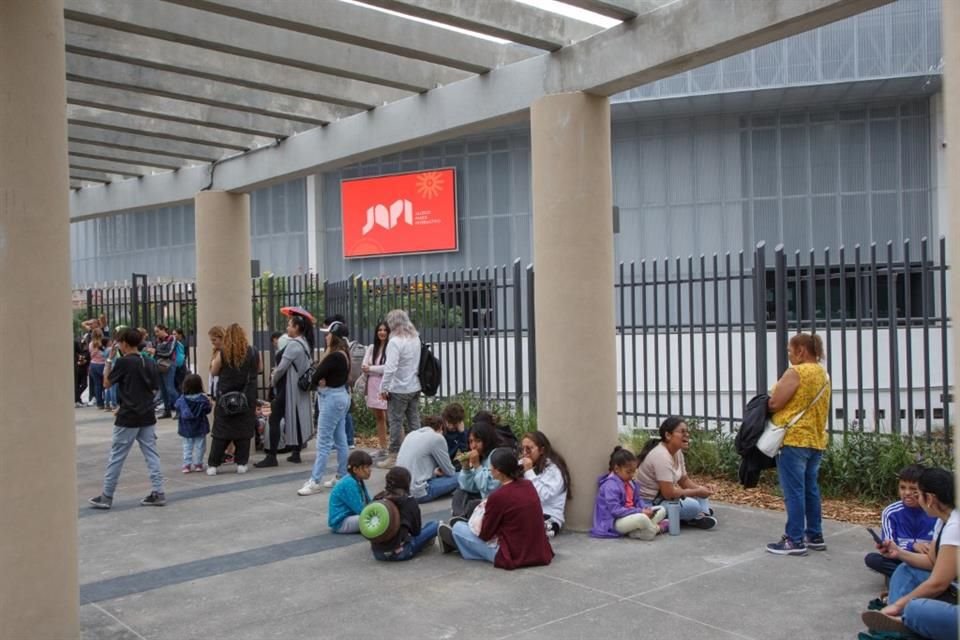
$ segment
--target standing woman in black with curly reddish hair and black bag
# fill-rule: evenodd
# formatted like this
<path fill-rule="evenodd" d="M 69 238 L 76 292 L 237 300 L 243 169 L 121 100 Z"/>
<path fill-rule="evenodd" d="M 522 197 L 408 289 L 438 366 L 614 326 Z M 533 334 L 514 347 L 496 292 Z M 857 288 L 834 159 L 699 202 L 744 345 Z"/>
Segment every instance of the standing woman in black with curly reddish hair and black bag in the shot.
<path fill-rule="evenodd" d="M 257 373 L 262 363 L 239 324 L 227 327 L 223 346 L 213 357 L 210 373 L 219 376 L 213 413 L 207 475 L 217 475 L 227 445 L 233 442 L 237 473 L 247 472 L 250 440 L 257 428 Z"/>

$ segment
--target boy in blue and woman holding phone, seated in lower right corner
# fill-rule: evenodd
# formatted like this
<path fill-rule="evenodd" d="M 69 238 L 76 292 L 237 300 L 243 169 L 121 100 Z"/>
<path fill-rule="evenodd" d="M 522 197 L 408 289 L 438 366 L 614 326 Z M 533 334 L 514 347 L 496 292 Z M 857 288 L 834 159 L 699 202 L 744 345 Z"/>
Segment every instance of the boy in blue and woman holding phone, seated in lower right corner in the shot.
<path fill-rule="evenodd" d="M 910 465 L 898 478 L 900 500 L 883 510 L 881 534 L 870 530 L 876 551 L 864 558 L 889 588 L 868 605 L 862 617 L 869 633 L 861 637 L 956 640 L 960 512 L 953 474 Z"/>

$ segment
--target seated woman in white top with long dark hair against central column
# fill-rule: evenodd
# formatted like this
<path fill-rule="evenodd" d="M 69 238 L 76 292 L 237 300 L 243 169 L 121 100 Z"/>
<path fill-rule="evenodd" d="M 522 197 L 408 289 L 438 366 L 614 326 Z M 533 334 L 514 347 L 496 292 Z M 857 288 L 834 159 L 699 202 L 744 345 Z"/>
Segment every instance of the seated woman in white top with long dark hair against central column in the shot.
<path fill-rule="evenodd" d="M 570 471 L 567 462 L 554 451 L 550 439 L 542 431 L 524 434 L 520 441 L 523 457 L 523 477 L 533 483 L 540 506 L 543 509 L 543 525 L 547 537 L 560 533 L 563 528 L 564 510 L 567 500 L 572 497 L 570 490 Z"/>

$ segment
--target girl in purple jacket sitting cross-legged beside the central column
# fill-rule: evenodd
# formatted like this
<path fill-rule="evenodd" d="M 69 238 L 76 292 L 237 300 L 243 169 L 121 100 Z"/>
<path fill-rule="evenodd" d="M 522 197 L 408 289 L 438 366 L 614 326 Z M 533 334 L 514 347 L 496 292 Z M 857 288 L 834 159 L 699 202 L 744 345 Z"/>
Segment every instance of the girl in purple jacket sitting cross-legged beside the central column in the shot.
<path fill-rule="evenodd" d="M 640 497 L 640 485 L 633 479 L 637 456 L 617 447 L 610 456 L 609 471 L 597 480 L 597 501 L 593 508 L 594 538 L 627 536 L 653 540 L 661 533 L 660 522 L 666 516 L 662 506 L 650 507 Z"/>

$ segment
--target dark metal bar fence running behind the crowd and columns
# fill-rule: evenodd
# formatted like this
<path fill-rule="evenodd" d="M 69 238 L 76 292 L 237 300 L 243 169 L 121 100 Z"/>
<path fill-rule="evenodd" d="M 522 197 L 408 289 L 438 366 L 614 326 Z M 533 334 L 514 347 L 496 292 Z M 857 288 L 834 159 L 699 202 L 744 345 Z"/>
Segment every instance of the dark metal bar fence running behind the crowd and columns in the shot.
<path fill-rule="evenodd" d="M 821 336 L 832 378 L 831 433 L 924 434 L 951 424 L 946 245 L 841 247 L 641 260 L 618 266 L 618 414 L 653 427 L 669 415 L 734 429 L 750 397 L 788 366 L 798 331 Z M 895 259 L 895 257 L 897 259 Z M 377 323 L 405 309 L 443 365 L 441 396 L 535 408 L 534 271 L 511 266 L 393 278 L 266 276 L 252 283 L 253 343 L 273 358 L 284 306 L 342 314 L 369 344 Z M 183 328 L 195 346 L 196 288 L 134 284 L 85 293 L 86 313 L 112 325 Z M 560 322 L 562 319 L 557 319 Z M 319 337 L 319 336 L 318 336 Z M 191 365 L 195 363 L 190 350 Z"/>

